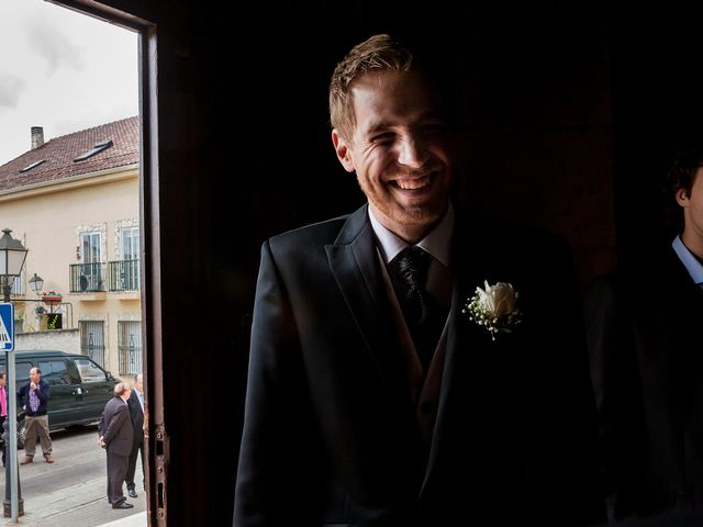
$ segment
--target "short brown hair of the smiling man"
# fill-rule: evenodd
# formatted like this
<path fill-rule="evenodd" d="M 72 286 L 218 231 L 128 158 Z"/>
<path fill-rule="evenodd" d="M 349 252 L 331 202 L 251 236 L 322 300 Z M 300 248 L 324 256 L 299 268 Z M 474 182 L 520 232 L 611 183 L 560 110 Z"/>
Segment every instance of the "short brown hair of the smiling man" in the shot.
<path fill-rule="evenodd" d="M 356 126 L 350 86 L 372 69 L 411 71 L 414 69 L 413 56 L 397 40 L 380 34 L 354 46 L 337 64 L 330 82 L 330 121 L 347 141 Z"/>

